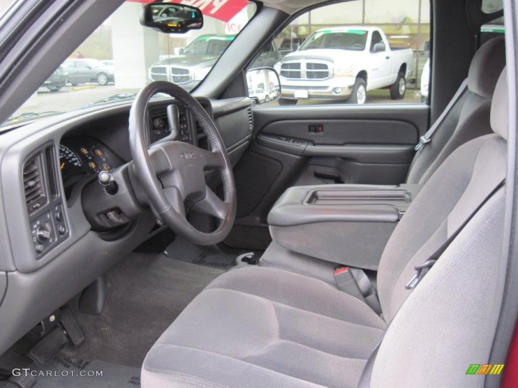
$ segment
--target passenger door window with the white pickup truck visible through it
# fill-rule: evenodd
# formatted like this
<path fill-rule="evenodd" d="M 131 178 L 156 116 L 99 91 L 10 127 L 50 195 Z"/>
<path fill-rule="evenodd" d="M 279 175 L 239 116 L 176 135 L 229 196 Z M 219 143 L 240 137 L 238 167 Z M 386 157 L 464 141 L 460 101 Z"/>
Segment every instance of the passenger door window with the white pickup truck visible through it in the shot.
<path fill-rule="evenodd" d="M 279 74 L 281 98 L 268 105 L 422 103 L 428 96 L 429 0 L 314 8 L 274 44 L 280 59 L 268 65 Z"/>

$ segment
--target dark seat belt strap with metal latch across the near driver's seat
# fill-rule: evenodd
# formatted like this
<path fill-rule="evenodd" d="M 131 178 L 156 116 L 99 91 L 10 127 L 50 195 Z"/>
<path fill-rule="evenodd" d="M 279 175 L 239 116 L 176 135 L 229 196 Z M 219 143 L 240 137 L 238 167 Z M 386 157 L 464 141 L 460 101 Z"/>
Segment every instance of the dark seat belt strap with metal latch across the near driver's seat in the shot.
<path fill-rule="evenodd" d="M 432 253 L 432 255 L 429 257 L 428 260 L 426 260 L 423 264 L 426 264 L 426 263 L 429 263 L 431 262 L 431 264 L 427 264 L 425 267 L 427 268 L 427 271 L 423 273 L 423 271 L 421 271 L 421 273 L 419 273 L 419 270 L 425 268 L 423 266 L 423 264 L 420 264 L 420 265 L 416 265 L 415 268 L 416 268 L 416 275 L 419 275 L 418 276 L 418 280 L 415 281 L 415 283 L 412 285 L 411 288 L 409 289 L 414 289 L 415 286 L 418 285 L 418 283 L 422 280 L 422 278 L 424 277 L 424 275 L 430 270 L 430 268 L 437 262 L 437 260 L 439 259 L 439 257 L 442 255 L 442 253 L 448 248 L 448 246 L 453 242 L 453 240 L 455 240 L 455 237 L 458 236 L 459 233 L 461 233 L 461 231 L 464 229 L 464 227 L 468 224 L 468 222 L 478 213 L 478 211 L 482 208 L 482 206 L 484 206 L 487 201 L 489 201 L 493 195 L 501 188 L 503 187 L 503 185 L 506 184 L 506 180 L 503 179 L 502 181 L 500 181 L 500 183 L 493 189 L 491 190 L 491 192 L 483 199 L 483 201 L 481 203 L 479 203 L 479 205 L 475 208 L 475 210 L 473 212 L 471 212 L 471 214 L 468 216 L 468 218 L 461 224 L 461 226 L 459 226 L 455 232 L 453 232 L 453 234 L 434 252 Z M 421 267 L 421 268 L 418 268 L 418 267 Z M 415 278 L 415 276 L 412 278 L 412 280 Z M 407 283 L 407 286 L 412 282 L 412 280 L 410 280 L 408 283 Z M 407 288 L 407 286 L 405 286 L 405 288 Z M 402 305 L 401 305 L 402 306 Z M 401 308 L 401 306 L 399 306 L 399 309 Z M 398 309 L 398 311 L 399 311 Z M 396 314 L 394 314 L 394 317 L 397 315 L 398 311 L 396 311 Z M 394 317 L 392 319 L 394 319 Z M 359 378 L 359 381 L 358 381 L 358 385 L 357 385 L 357 388 L 370 388 L 370 379 L 371 379 L 371 376 L 372 376 L 372 369 L 374 368 L 374 362 L 376 361 L 376 356 L 378 355 L 378 351 L 380 349 L 380 346 L 381 346 L 381 342 L 383 342 L 383 338 L 385 338 L 385 334 L 387 332 L 387 330 L 389 330 L 389 327 L 392 323 L 392 320 L 389 322 L 389 324 L 387 324 L 386 328 L 385 328 L 385 331 L 383 332 L 383 334 L 381 335 L 381 338 L 380 340 L 378 341 L 378 344 L 376 345 L 376 348 L 372 351 L 372 353 L 370 354 L 369 358 L 367 359 L 367 363 L 365 364 L 365 367 L 363 368 L 363 372 L 362 372 L 362 375 L 360 376 Z"/>

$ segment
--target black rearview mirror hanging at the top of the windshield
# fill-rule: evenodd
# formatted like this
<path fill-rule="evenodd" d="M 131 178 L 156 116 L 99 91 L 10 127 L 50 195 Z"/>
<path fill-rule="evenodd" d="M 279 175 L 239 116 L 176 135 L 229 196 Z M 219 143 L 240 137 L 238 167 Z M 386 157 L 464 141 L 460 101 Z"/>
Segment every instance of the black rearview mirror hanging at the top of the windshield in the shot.
<path fill-rule="evenodd" d="M 140 24 L 168 34 L 183 34 L 203 27 L 203 13 L 184 4 L 151 3 L 143 8 Z"/>

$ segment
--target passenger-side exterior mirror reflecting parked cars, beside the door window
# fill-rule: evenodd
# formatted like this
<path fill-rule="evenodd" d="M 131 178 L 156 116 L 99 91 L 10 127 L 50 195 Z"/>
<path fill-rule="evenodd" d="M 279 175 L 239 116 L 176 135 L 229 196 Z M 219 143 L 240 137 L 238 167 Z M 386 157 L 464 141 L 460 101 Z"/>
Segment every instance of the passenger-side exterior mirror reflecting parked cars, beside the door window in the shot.
<path fill-rule="evenodd" d="M 257 67 L 247 71 L 248 96 L 258 103 L 271 102 L 281 96 L 281 82 L 271 67 Z"/>

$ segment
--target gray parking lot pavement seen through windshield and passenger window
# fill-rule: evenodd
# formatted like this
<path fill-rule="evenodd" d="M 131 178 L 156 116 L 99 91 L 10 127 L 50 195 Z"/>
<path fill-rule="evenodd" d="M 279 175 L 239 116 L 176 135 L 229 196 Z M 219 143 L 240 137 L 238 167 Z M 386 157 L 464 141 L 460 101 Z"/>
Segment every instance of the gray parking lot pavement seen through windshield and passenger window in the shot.
<path fill-rule="evenodd" d="M 45 111 L 70 111 L 88 106 L 90 103 L 119 94 L 137 93 L 138 89 L 119 89 L 115 85 L 99 86 L 95 84 L 80 86 L 65 86 L 59 92 L 49 92 L 46 88 L 40 88 L 37 95 L 22 106 L 17 113 L 45 112 Z M 415 89 L 408 89 L 402 100 L 392 100 L 389 91 L 385 89 L 371 91 L 367 97 L 367 103 L 419 103 L 421 97 Z M 323 103 L 342 104 L 345 101 L 320 101 L 299 100 L 298 105 L 315 105 Z M 268 106 L 279 105 L 277 101 L 266 104 Z"/>

